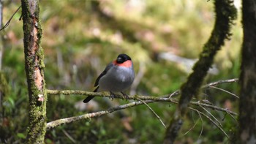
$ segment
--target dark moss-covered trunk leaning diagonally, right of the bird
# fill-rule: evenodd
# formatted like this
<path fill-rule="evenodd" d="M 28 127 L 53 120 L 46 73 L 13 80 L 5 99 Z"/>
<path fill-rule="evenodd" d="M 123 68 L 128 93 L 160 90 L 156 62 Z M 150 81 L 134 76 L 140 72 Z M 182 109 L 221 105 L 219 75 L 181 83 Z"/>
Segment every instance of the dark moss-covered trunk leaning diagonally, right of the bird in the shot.
<path fill-rule="evenodd" d="M 190 100 L 193 96 L 197 96 L 204 77 L 206 77 L 208 69 L 214 61 L 214 56 L 224 45 L 225 39 L 230 36 L 231 24 L 236 19 L 236 8 L 233 5 L 233 0 L 215 0 L 214 8 L 216 14 L 214 29 L 208 42 L 203 47 L 203 52 L 200 53 L 199 60 L 193 67 L 192 74 L 189 75 L 187 82 L 181 87 L 181 99 L 176 113 L 167 127 L 165 143 L 173 143 L 176 139 Z"/>

